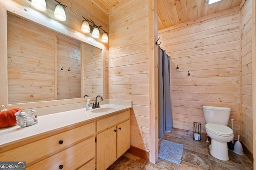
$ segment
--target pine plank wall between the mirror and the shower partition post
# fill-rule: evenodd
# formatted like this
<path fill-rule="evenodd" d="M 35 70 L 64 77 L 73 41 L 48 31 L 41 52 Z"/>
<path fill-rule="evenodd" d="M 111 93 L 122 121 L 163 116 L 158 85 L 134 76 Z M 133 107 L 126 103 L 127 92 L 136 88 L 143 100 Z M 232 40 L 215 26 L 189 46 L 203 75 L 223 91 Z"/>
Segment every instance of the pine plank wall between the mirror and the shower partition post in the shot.
<path fill-rule="evenodd" d="M 132 100 L 131 146 L 149 151 L 148 0 L 109 10 L 109 98 Z"/>

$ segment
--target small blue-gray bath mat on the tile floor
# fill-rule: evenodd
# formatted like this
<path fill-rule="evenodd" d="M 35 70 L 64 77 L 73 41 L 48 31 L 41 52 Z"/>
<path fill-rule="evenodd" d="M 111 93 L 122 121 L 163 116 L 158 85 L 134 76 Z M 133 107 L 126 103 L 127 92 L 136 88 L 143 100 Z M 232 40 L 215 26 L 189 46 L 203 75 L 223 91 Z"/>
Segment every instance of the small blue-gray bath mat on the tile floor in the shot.
<path fill-rule="evenodd" d="M 180 164 L 183 152 L 183 144 L 166 141 L 162 139 L 159 145 L 158 157 Z"/>

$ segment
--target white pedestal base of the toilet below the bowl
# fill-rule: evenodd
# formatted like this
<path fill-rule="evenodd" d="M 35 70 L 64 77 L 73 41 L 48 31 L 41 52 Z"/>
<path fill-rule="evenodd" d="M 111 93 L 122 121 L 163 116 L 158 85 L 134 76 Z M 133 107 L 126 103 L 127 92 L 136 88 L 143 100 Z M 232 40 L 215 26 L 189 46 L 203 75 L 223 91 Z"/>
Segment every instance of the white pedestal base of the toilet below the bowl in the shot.
<path fill-rule="evenodd" d="M 224 161 L 229 160 L 228 143 L 221 143 L 212 139 L 211 145 L 210 145 L 210 153 L 212 154 L 213 157 L 219 160 L 224 160 Z"/>

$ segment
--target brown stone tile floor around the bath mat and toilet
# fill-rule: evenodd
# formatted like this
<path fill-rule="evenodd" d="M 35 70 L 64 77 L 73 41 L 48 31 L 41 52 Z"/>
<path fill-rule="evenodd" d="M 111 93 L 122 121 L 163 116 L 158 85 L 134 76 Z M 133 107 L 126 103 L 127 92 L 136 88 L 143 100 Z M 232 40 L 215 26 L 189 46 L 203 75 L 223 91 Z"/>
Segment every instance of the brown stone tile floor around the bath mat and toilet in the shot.
<path fill-rule="evenodd" d="M 156 164 L 134 156 L 123 154 L 108 170 L 253 170 L 253 164 L 245 155 L 235 154 L 228 150 L 229 160 L 222 161 L 210 154 L 209 144 L 192 137 L 167 132 L 163 139 L 184 144 L 180 164 L 158 158 Z"/>

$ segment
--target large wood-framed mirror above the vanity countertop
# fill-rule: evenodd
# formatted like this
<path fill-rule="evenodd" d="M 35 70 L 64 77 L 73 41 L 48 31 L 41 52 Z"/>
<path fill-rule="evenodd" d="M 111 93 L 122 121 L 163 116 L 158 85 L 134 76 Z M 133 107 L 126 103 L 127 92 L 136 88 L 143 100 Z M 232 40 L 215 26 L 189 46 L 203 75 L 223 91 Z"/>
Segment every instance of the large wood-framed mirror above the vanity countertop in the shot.
<path fill-rule="evenodd" d="M 9 8 L 0 6 L 1 104 L 28 109 L 108 98 L 104 44 L 44 14 Z"/>

